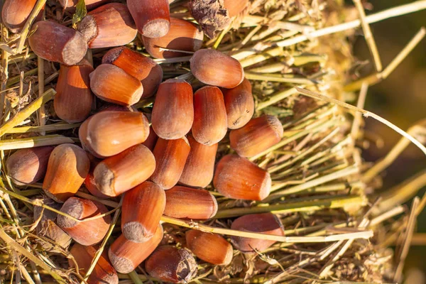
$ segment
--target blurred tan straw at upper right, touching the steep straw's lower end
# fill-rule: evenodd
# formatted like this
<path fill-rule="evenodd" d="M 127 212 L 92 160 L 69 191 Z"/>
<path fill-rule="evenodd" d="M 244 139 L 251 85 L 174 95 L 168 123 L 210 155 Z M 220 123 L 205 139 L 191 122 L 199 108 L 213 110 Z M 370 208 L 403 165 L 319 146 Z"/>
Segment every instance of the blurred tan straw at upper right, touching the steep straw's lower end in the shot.
<path fill-rule="evenodd" d="M 410 40 L 408 45 L 405 45 L 405 48 L 403 48 L 403 50 L 401 50 L 400 53 L 396 55 L 392 62 L 382 72 L 378 72 L 368 77 L 361 78 L 360 80 L 356 80 L 355 82 L 351 82 L 350 84 L 347 84 L 344 87 L 344 90 L 346 92 L 353 92 L 360 89 L 361 85 L 364 84 L 364 82 L 372 85 L 377 84 L 382 80 L 385 80 L 391 74 L 391 72 L 393 72 L 393 70 L 395 70 L 395 68 L 400 65 L 400 62 L 402 62 L 408 56 L 408 54 L 417 46 L 417 44 L 420 43 L 420 40 L 422 40 L 425 35 L 426 28 L 420 28 L 420 31 L 416 33 L 416 35 Z"/>

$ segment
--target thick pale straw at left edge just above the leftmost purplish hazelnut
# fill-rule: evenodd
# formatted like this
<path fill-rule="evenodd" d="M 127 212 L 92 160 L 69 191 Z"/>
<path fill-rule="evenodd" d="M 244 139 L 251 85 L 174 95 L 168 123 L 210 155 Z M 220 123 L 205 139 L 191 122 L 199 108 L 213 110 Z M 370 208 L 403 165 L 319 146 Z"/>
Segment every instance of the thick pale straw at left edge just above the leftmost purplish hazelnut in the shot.
<path fill-rule="evenodd" d="M 0 151 L 33 148 L 40 146 L 52 146 L 63 143 L 76 143 L 79 141 L 80 140 L 78 138 L 71 138 L 56 134 L 19 139 L 8 139 L 0 141 Z"/>

